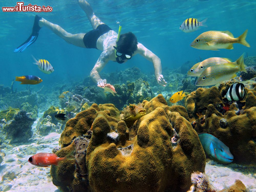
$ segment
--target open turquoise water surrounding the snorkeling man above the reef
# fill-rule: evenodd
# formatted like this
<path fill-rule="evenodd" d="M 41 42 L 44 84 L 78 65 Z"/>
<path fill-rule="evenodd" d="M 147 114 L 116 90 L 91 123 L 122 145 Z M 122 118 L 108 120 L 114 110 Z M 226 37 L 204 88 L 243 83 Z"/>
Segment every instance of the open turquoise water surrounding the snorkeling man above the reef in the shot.
<path fill-rule="evenodd" d="M 32 3 L 25 1 L 24 4 Z M 120 22 L 122 33 L 132 31 L 138 42 L 155 53 L 162 61 L 162 68 L 175 69 L 186 61 L 196 63 L 199 56 L 226 57 L 236 60 L 243 52 L 255 55 L 255 10 L 256 2 L 248 1 L 92 1 L 95 14 L 115 31 Z M 49 5 L 51 13 L 40 13 L 52 23 L 60 25 L 69 33 L 86 33 L 91 25 L 85 13 L 76 1 L 33 1 L 32 4 Z M 14 6 L 15 1 L 4 1 L 1 6 Z M 42 28 L 33 45 L 24 52 L 13 53 L 31 33 L 35 12 L 3 13 L 1 11 L 1 63 L 0 83 L 9 86 L 15 76 L 33 74 L 44 80 L 34 86 L 35 89 L 52 83 L 78 81 L 88 76 L 100 51 L 84 49 L 67 44 L 48 28 Z M 183 33 L 180 24 L 189 17 L 203 20 L 208 18 L 208 27 L 200 27 L 193 33 Z M 189 46 L 199 34 L 207 30 L 229 30 L 238 37 L 248 29 L 247 41 L 251 48 L 235 44 L 233 50 L 221 51 L 198 50 Z M 36 58 L 47 59 L 55 71 L 51 75 L 41 73 L 31 54 Z M 132 66 L 142 71 L 153 73 L 152 63 L 140 56 L 135 56 L 125 64 L 109 62 L 103 72 L 119 71 Z M 164 73 L 164 72 L 163 72 Z M 18 89 L 23 89 L 18 86 Z"/>

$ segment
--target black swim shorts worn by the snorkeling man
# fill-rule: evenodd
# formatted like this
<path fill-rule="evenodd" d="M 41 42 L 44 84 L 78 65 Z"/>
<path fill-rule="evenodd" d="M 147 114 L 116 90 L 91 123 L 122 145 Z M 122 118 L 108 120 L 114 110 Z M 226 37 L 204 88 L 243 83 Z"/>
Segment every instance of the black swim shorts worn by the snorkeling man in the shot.
<path fill-rule="evenodd" d="M 86 48 L 95 48 L 97 49 L 97 40 L 98 38 L 107 33 L 108 31 L 112 30 L 106 24 L 99 25 L 96 29 L 89 31 L 87 34 L 83 36 L 83 43 Z"/>

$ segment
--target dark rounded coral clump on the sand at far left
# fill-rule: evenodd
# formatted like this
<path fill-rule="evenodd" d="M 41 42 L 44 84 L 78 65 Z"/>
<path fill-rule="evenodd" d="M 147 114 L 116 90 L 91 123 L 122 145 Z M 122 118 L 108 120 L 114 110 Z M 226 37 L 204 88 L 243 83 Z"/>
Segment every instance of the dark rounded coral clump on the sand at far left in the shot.
<path fill-rule="evenodd" d="M 13 120 L 5 122 L 3 130 L 9 143 L 24 143 L 33 135 L 32 124 L 36 119 L 31 118 L 29 113 L 21 110 L 14 115 Z"/>

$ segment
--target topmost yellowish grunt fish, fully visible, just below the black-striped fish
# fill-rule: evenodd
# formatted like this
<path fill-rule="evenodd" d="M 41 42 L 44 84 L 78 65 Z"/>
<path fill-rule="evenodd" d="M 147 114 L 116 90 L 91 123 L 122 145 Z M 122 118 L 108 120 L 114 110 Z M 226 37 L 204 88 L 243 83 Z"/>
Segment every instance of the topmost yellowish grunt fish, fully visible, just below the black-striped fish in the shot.
<path fill-rule="evenodd" d="M 248 29 L 246 29 L 242 35 L 234 38 L 233 34 L 229 31 L 206 31 L 199 35 L 190 46 L 196 49 L 214 50 L 218 49 L 233 49 L 234 43 L 240 43 L 246 47 L 250 47 L 246 42 Z"/>

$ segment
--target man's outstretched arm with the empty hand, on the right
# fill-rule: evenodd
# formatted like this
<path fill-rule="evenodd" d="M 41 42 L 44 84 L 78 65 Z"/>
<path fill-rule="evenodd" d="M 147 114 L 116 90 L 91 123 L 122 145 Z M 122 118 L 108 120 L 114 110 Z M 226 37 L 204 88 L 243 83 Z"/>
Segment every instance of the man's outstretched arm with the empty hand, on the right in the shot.
<path fill-rule="evenodd" d="M 166 86 L 166 81 L 164 80 L 164 77 L 162 75 L 162 65 L 161 60 L 159 57 L 157 57 L 152 51 L 147 49 L 144 45 L 141 43 L 138 43 L 138 53 L 145 57 L 147 60 L 151 61 L 154 66 L 155 70 L 155 78 L 157 80 L 157 83 L 162 86 Z"/>

